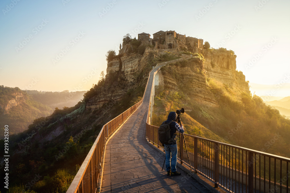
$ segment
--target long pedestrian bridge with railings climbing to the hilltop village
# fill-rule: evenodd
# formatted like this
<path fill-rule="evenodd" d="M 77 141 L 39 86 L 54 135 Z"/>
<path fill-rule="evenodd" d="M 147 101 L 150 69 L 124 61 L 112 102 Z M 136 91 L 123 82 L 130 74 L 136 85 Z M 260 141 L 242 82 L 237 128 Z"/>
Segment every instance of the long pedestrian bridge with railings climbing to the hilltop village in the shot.
<path fill-rule="evenodd" d="M 154 76 L 160 67 L 186 59 L 153 68 L 142 100 L 103 126 L 68 193 L 290 191 L 290 159 L 188 134 L 177 144 L 182 175 L 168 177 L 165 166 L 161 171 L 165 153 L 158 127 L 151 125 Z"/>

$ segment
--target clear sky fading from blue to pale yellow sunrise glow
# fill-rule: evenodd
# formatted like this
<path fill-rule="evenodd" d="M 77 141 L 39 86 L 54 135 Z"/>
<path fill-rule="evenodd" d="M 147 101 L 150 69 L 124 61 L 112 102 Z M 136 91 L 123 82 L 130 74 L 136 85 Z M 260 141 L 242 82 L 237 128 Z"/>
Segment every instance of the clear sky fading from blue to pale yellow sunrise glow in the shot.
<path fill-rule="evenodd" d="M 233 50 L 252 92 L 263 84 L 261 95 L 274 87 L 289 96 L 289 8 L 289 0 L 2 0 L 0 85 L 89 90 L 124 35 L 175 30 Z"/>

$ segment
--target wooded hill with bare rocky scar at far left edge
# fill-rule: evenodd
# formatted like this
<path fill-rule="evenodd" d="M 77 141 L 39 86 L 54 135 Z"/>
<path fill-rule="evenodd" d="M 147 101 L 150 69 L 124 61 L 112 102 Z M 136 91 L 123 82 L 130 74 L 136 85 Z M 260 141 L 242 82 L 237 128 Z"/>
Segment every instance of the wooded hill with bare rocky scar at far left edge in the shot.
<path fill-rule="evenodd" d="M 9 125 L 9 135 L 19 133 L 26 130 L 33 120 L 52 112 L 52 108 L 35 101 L 18 87 L 0 86 L 0 139 L 4 136 L 4 125 Z"/>

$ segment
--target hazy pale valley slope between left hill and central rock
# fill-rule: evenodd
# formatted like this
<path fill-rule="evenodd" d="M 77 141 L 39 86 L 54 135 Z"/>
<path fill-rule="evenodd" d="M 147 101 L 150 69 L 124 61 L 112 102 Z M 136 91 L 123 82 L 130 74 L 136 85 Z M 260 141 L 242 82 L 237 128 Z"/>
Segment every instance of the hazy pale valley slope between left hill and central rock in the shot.
<path fill-rule="evenodd" d="M 80 100 L 84 98 L 86 91 L 69 92 L 68 90 L 62 92 L 44 92 L 36 90 L 26 90 L 32 98 L 49 106 L 52 109 L 56 107 L 62 109 L 64 107 L 75 106 Z"/>

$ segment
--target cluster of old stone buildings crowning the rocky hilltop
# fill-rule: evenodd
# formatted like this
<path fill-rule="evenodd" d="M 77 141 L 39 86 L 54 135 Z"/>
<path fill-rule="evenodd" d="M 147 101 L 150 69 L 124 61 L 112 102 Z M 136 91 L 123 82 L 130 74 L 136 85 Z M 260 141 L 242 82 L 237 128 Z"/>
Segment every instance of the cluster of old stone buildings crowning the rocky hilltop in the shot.
<path fill-rule="evenodd" d="M 158 49 L 172 49 L 171 51 L 186 51 L 192 53 L 200 53 L 203 49 L 203 40 L 186 35 L 178 34 L 175 31 L 159 31 L 153 34 L 141 33 L 138 34 L 138 41 L 154 45 Z"/>

